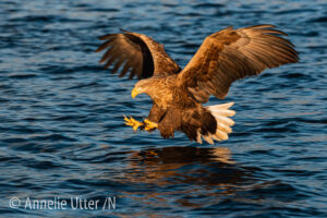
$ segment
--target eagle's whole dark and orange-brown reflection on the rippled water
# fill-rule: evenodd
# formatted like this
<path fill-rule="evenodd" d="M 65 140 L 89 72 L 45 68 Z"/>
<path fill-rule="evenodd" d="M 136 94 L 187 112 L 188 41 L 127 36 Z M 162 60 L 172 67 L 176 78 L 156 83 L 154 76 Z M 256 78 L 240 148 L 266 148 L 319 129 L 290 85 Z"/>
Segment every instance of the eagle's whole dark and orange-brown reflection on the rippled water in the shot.
<path fill-rule="evenodd" d="M 213 205 L 255 181 L 252 174 L 256 169 L 239 166 L 226 147 L 148 148 L 133 153 L 129 159 L 124 180 L 154 190 L 146 195 L 142 194 L 143 189 L 133 191 L 132 198 L 157 207 Z M 131 197 L 130 192 L 123 193 Z"/>

